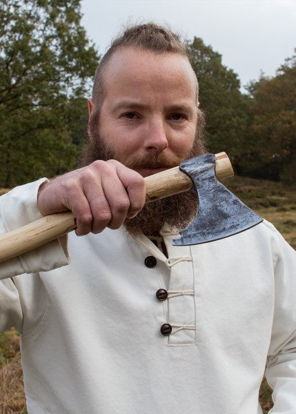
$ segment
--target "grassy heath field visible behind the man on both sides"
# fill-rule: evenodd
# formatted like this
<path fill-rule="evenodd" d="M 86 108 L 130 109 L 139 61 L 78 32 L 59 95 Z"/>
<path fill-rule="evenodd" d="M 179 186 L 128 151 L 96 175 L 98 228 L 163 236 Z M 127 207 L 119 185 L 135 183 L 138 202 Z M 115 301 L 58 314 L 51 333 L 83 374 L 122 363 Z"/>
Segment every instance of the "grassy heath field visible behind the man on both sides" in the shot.
<path fill-rule="evenodd" d="M 296 248 L 296 187 L 272 181 L 234 177 L 224 184 L 259 215 L 271 221 Z M 4 192 L 4 190 L 2 191 Z M 0 189 L 1 194 L 1 189 Z M 25 414 L 19 335 L 0 335 L 0 414 Z M 264 414 L 272 407 L 270 388 L 264 380 L 259 392 Z"/>

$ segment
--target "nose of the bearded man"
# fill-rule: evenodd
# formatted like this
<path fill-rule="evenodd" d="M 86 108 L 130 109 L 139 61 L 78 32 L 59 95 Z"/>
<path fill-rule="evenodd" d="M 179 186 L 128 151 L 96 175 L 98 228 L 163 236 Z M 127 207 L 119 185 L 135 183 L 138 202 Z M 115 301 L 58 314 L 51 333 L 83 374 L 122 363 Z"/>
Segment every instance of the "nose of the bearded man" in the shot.
<path fill-rule="evenodd" d="M 154 119 L 147 125 L 144 148 L 148 152 L 161 152 L 168 147 L 166 126 L 162 119 Z"/>

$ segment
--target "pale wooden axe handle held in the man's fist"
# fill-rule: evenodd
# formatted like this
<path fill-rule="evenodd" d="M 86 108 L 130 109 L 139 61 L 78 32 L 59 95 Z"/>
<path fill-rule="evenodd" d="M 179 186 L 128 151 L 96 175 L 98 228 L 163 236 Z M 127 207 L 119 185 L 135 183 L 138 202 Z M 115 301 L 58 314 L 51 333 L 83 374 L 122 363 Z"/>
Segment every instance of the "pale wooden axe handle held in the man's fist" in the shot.
<path fill-rule="evenodd" d="M 217 178 L 233 176 L 233 168 L 225 152 L 215 155 Z M 193 181 L 179 167 L 145 178 L 146 202 L 181 193 L 193 188 Z M 77 228 L 75 217 L 70 211 L 50 214 L 26 226 L 0 236 L 0 262 L 26 253 L 57 239 Z"/>

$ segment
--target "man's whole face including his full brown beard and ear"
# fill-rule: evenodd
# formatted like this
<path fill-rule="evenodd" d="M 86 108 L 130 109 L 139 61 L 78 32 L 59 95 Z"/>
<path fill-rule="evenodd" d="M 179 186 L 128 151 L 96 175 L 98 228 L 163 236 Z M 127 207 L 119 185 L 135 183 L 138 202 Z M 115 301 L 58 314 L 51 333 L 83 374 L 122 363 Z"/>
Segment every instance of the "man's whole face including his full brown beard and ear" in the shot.
<path fill-rule="evenodd" d="M 113 158 L 145 177 L 204 152 L 197 79 L 185 57 L 125 48 L 111 57 L 103 80 L 99 119 L 88 101 L 92 116 L 81 166 Z M 164 223 L 184 228 L 196 211 L 197 197 L 180 193 L 146 204 L 124 226 L 159 235 Z"/>

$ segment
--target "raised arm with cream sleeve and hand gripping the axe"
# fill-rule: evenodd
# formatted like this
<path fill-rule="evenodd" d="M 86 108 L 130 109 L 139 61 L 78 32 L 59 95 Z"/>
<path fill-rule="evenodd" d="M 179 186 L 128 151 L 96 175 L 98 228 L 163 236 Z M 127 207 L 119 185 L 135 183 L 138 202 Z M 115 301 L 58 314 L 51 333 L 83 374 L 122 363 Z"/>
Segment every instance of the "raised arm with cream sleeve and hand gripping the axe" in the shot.
<path fill-rule="evenodd" d="M 2 232 L 42 215 L 72 210 L 77 219 L 77 235 L 90 231 L 99 233 L 106 226 L 119 228 L 126 217 L 134 217 L 139 212 L 144 202 L 145 185 L 141 175 L 118 161 L 95 161 L 52 181 L 43 179 L 15 188 L 2 197 Z M 0 271 L 3 278 L 46 271 L 64 264 L 67 264 L 65 255 L 61 253 L 59 242 L 54 241 L 8 260 L 1 264 Z"/>

